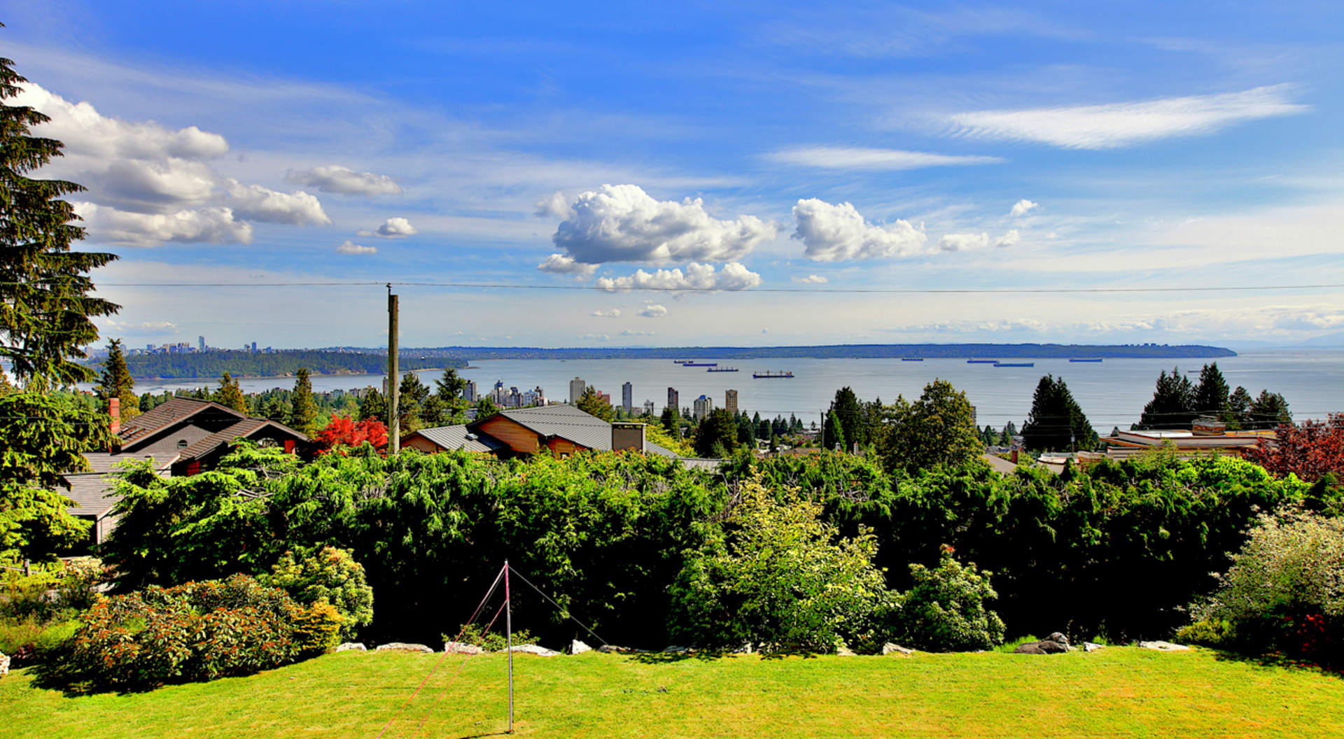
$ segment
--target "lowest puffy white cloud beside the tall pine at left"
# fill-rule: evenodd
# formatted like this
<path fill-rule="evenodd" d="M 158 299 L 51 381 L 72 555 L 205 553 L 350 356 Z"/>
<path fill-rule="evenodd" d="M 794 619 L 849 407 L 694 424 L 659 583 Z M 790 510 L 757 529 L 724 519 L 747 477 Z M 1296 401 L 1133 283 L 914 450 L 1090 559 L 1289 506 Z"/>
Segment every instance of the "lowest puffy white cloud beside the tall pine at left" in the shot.
<path fill-rule="evenodd" d="M 126 246 L 181 243 L 251 243 L 251 224 L 234 219 L 226 207 L 137 214 L 95 203 L 73 203 L 99 241 Z"/>

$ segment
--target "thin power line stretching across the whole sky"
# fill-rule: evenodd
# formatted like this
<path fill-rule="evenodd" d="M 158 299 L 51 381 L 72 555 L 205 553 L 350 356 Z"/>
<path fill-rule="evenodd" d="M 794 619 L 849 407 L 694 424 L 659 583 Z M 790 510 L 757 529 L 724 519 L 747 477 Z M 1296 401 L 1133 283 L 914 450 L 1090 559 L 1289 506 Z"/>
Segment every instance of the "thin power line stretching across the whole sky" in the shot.
<path fill-rule="evenodd" d="M 24 282 L 0 282 L 0 285 L 24 285 Z M 828 294 L 1077 294 L 1077 293 L 1216 293 L 1216 292 L 1271 292 L 1271 290 L 1327 290 L 1341 289 L 1344 284 L 1306 285 L 1195 285 L 1175 288 L 750 288 L 746 290 L 724 290 L 722 288 L 659 288 L 621 286 L 602 288 L 598 285 L 523 285 L 512 282 L 98 282 L 95 288 L 461 288 L 487 290 L 579 290 L 597 293 L 828 293 Z"/>

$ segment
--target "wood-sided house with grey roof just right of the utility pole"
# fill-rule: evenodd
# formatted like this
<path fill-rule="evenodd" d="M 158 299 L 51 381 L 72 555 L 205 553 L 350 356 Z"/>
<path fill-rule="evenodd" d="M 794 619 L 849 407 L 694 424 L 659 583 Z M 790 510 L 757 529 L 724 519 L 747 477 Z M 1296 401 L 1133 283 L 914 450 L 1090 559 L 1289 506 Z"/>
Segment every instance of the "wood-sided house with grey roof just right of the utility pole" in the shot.
<path fill-rule="evenodd" d="M 402 447 L 427 454 L 466 449 L 501 460 L 547 450 L 564 458 L 579 451 L 621 451 L 634 449 L 681 460 L 687 466 L 718 468 L 720 460 L 677 457 L 669 449 L 648 441 L 642 423 L 609 423 L 574 406 L 511 408 L 489 418 L 458 426 L 421 429 L 402 439 Z"/>

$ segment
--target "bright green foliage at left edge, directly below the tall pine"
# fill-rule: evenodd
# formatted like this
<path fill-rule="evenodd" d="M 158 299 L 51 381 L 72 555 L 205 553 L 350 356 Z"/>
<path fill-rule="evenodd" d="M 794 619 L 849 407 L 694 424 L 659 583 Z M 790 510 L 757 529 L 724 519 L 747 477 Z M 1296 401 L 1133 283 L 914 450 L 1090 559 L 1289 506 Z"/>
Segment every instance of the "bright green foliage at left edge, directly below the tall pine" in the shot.
<path fill-rule="evenodd" d="M 66 473 L 112 443 L 109 418 L 66 394 L 0 395 L 0 559 L 48 559 L 85 537 L 66 512 Z"/>

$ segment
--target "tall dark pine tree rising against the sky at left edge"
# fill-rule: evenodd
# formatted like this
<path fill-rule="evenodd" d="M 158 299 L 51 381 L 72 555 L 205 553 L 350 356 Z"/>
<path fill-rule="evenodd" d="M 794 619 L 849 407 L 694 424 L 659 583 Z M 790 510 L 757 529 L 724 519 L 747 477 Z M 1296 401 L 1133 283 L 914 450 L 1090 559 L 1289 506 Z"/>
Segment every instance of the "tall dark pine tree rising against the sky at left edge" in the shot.
<path fill-rule="evenodd" d="M 28 136 L 47 116 L 3 102 L 17 95 L 23 82 L 13 62 L 0 58 L 0 356 L 20 382 L 44 390 L 97 379 L 73 360 L 83 359 L 82 347 L 98 339 L 90 316 L 110 316 L 121 306 L 89 296 L 89 271 L 117 257 L 70 250 L 83 228 L 59 198 L 85 188 L 24 176 L 60 156 L 63 144 Z"/>

